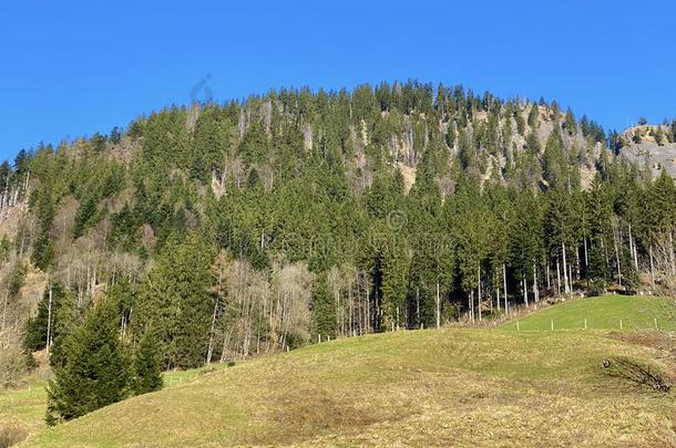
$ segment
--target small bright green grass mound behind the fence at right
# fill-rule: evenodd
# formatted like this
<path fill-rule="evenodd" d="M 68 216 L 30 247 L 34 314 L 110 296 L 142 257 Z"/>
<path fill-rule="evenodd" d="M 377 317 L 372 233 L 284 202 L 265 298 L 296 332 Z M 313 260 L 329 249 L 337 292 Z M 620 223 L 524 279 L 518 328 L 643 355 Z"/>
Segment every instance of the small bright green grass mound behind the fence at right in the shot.
<path fill-rule="evenodd" d="M 525 317 L 506 322 L 502 330 L 676 330 L 676 301 L 652 295 L 604 295 L 557 303 Z"/>

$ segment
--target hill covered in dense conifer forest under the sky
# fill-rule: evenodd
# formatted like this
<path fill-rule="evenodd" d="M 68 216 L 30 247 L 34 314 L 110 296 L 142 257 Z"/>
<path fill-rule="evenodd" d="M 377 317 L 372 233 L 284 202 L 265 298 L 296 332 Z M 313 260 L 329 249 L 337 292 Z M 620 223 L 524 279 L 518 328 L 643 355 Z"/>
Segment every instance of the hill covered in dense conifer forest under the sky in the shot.
<path fill-rule="evenodd" d="M 0 173 L 4 356 L 53 344 L 64 363 L 103 300 L 124 347 L 152 333 L 188 367 L 672 288 L 673 181 L 623 145 L 555 102 L 408 82 L 167 107 L 21 152 Z"/>

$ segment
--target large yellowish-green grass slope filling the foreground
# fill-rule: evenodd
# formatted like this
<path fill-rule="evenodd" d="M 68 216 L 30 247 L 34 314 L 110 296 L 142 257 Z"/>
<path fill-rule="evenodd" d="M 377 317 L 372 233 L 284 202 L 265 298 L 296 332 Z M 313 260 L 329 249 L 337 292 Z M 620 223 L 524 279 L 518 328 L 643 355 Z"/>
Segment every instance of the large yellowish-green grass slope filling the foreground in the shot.
<path fill-rule="evenodd" d="M 674 394 L 605 375 L 598 332 L 410 331 L 207 367 L 22 446 L 668 446 Z"/>

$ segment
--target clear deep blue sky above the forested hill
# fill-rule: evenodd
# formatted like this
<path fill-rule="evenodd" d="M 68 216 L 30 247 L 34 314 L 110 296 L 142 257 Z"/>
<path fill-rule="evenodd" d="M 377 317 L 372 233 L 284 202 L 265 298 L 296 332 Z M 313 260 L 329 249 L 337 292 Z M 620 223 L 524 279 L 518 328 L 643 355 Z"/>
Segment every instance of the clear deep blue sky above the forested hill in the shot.
<path fill-rule="evenodd" d="M 604 127 L 676 115 L 670 1 L 3 1 L 0 159 L 270 87 L 462 83 Z M 327 4 L 324 4 L 327 3 Z"/>

